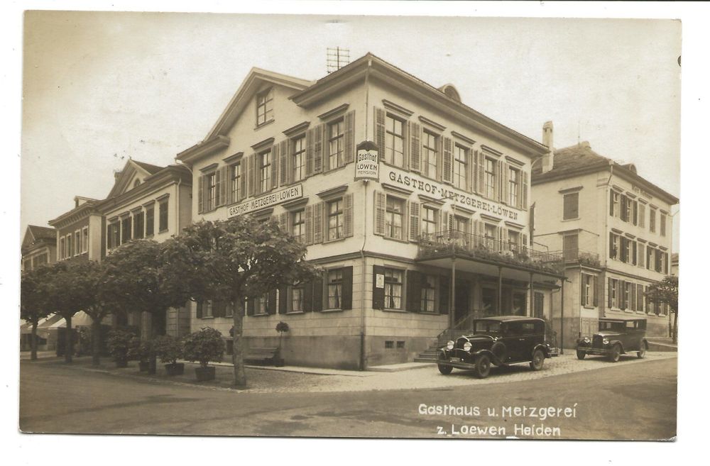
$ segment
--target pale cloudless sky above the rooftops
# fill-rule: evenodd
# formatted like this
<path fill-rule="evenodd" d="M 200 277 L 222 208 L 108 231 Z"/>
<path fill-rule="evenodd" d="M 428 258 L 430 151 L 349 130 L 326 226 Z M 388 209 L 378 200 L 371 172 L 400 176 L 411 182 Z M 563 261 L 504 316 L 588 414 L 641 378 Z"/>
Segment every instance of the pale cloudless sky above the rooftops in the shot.
<path fill-rule="evenodd" d="M 129 157 L 174 163 L 251 67 L 318 79 L 335 46 L 535 140 L 552 120 L 555 147 L 589 141 L 680 194 L 680 21 L 28 11 L 23 45 L 23 231 L 104 199 Z"/>

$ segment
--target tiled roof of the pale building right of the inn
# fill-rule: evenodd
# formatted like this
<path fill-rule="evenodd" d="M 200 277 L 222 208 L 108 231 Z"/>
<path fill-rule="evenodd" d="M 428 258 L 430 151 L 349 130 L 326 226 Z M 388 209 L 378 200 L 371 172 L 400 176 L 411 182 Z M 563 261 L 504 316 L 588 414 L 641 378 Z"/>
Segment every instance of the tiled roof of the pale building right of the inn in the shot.
<path fill-rule="evenodd" d="M 541 184 L 557 179 L 567 179 L 608 170 L 613 170 L 614 174 L 643 185 L 653 196 L 664 199 L 670 205 L 677 204 L 679 201 L 676 196 L 657 187 L 636 173 L 636 167 L 633 163 L 621 165 L 607 157 L 603 157 L 603 155 L 591 150 L 591 146 L 586 141 L 571 145 L 568 148 L 556 149 L 552 160 L 552 170 L 548 172 L 542 173 L 542 163 L 533 164 L 530 184 Z"/>

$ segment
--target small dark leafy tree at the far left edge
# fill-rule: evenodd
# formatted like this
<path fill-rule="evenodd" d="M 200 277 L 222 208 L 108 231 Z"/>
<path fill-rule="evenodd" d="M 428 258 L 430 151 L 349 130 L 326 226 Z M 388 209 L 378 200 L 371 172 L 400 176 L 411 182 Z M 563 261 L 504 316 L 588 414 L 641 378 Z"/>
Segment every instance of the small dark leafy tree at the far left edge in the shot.
<path fill-rule="evenodd" d="M 32 325 L 31 360 L 37 359 L 37 324 L 51 314 L 51 300 L 43 287 L 45 280 L 51 279 L 49 271 L 46 266 L 26 270 L 20 281 L 20 318 Z"/>

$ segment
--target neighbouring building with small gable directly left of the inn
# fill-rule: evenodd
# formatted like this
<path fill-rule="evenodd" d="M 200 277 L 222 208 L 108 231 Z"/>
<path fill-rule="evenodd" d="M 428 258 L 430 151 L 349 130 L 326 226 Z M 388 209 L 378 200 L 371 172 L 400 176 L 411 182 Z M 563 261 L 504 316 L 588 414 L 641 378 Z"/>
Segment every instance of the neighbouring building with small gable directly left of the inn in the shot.
<path fill-rule="evenodd" d="M 107 199 L 99 203 L 106 224 L 102 243 L 104 255 L 134 239 L 150 238 L 162 242 L 180 233 L 190 224 L 192 215 L 192 173 L 182 165 L 158 167 L 136 160 L 126 162 L 116 173 L 114 187 Z M 164 316 L 129 314 L 116 324 L 138 326 L 145 338 L 151 326 L 159 334 L 182 336 L 190 333 L 187 308 L 170 309 Z"/>

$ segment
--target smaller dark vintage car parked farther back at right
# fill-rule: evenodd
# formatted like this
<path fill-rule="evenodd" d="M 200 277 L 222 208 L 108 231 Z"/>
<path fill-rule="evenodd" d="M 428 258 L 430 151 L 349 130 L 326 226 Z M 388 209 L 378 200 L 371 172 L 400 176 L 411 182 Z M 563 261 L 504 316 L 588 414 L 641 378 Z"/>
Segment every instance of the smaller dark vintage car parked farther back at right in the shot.
<path fill-rule="evenodd" d="M 621 355 L 635 352 L 642 358 L 648 348 L 645 337 L 646 319 L 643 317 L 600 318 L 597 333 L 577 340 L 577 357 L 600 355 L 617 362 Z"/>

